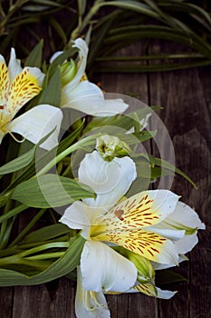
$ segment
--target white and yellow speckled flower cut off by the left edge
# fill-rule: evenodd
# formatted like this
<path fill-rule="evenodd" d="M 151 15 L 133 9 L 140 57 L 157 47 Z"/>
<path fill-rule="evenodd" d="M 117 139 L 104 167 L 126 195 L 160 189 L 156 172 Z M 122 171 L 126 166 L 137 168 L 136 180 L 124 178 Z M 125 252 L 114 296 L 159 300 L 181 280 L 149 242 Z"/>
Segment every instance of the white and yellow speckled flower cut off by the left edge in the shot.
<path fill-rule="evenodd" d="M 44 135 L 55 131 L 41 145 L 51 149 L 58 144 L 58 130 L 62 122 L 60 109 L 49 104 L 40 104 L 28 112 L 14 118 L 18 111 L 42 90 L 43 73 L 37 67 L 24 67 L 16 59 L 11 49 L 8 67 L 0 55 L 0 144 L 5 134 L 21 134 L 34 144 Z M 16 140 L 16 138 L 14 137 Z"/>

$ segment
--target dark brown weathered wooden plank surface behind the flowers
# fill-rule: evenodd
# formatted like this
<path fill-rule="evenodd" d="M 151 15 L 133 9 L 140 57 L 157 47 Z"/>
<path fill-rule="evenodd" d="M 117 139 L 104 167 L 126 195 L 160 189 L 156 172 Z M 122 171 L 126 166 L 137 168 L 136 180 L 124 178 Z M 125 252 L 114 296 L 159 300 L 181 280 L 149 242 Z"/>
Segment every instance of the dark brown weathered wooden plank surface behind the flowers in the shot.
<path fill-rule="evenodd" d="M 139 52 L 136 52 L 138 55 Z M 170 301 L 143 294 L 108 296 L 112 318 L 208 318 L 211 317 L 211 68 L 197 68 L 150 75 L 107 74 L 96 76 L 107 92 L 135 94 L 146 104 L 165 106 L 159 115 L 172 138 L 177 167 L 198 185 L 195 190 L 177 177 L 172 191 L 194 206 L 206 231 L 181 263 L 179 273 L 187 283 L 177 283 Z M 38 286 L 0 289 L 1 318 L 73 318 L 74 283 L 62 278 Z M 86 317 L 84 317 L 86 318 Z"/>

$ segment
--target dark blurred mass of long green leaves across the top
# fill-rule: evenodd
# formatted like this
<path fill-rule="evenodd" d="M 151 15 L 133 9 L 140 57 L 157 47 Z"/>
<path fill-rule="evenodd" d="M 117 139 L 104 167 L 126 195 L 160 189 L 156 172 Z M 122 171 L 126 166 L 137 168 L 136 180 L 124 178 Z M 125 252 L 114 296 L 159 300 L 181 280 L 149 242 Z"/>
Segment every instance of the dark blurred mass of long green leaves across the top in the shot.
<path fill-rule="evenodd" d="M 72 39 L 89 33 L 91 74 L 168 71 L 211 64 L 211 17 L 207 1 L 24 0 L 11 7 L 3 1 L 0 15 L 4 55 L 14 45 L 25 56 L 44 38 L 44 58 L 50 58 L 55 51 L 69 48 Z M 156 39 L 171 43 L 171 52 L 162 51 L 162 45 L 160 52 L 153 52 Z M 140 55 L 120 53 L 120 48 L 137 41 L 143 44 Z M 179 52 L 175 52 L 174 43 L 181 45 Z M 40 53 L 36 56 L 34 51 L 26 62 L 39 65 Z"/>

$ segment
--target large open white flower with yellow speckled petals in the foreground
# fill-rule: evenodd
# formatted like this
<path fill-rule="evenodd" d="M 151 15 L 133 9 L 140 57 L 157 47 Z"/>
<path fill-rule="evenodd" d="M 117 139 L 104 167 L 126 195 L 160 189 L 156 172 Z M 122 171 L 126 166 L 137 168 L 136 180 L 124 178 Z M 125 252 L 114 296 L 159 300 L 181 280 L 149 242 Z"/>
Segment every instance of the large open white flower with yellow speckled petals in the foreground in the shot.
<path fill-rule="evenodd" d="M 81 235 L 86 239 L 80 264 L 81 281 L 76 294 L 79 318 L 85 313 L 87 317 L 97 317 L 100 313 L 102 317 L 109 317 L 102 292 L 132 292 L 137 284 L 136 266 L 114 251 L 110 243 L 150 261 L 177 264 L 175 245 L 147 228 L 171 214 L 178 197 L 165 190 L 148 191 L 115 205 L 135 178 L 135 164 L 129 157 L 105 162 L 94 151 L 82 160 L 79 180 L 89 184 L 97 198 L 95 201 L 84 199 L 83 202 L 73 203 L 61 218 L 61 222 L 70 228 L 81 229 Z M 89 297 L 91 305 L 86 304 L 84 295 Z"/>

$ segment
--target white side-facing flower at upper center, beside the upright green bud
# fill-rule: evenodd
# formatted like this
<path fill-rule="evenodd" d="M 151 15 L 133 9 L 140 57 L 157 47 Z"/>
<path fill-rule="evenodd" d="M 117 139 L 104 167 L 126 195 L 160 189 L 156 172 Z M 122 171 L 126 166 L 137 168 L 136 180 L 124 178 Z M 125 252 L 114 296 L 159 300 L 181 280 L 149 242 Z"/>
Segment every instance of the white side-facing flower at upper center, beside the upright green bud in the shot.
<path fill-rule="evenodd" d="M 86 79 L 85 68 L 88 55 L 88 46 L 82 38 L 74 41 L 73 47 L 77 47 L 79 51 L 79 62 L 77 72 L 72 80 L 62 87 L 61 107 L 68 107 L 79 110 L 85 114 L 93 116 L 113 116 L 123 113 L 128 104 L 122 99 L 105 100 L 101 89 Z M 51 62 L 62 52 L 53 55 Z M 70 71 L 72 73 L 72 70 Z"/>

